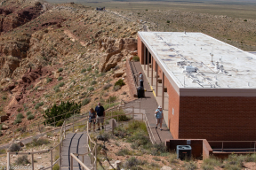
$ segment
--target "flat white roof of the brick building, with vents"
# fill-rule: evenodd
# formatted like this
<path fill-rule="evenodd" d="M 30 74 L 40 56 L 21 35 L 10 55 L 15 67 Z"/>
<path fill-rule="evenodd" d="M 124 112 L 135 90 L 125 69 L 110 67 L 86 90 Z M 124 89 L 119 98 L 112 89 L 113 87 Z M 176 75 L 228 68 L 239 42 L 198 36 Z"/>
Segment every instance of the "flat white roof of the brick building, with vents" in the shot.
<path fill-rule="evenodd" d="M 256 56 L 252 53 L 202 33 L 139 32 L 139 35 L 179 88 L 256 88 Z M 186 67 L 192 71 L 195 68 L 196 72 L 186 72 Z"/>

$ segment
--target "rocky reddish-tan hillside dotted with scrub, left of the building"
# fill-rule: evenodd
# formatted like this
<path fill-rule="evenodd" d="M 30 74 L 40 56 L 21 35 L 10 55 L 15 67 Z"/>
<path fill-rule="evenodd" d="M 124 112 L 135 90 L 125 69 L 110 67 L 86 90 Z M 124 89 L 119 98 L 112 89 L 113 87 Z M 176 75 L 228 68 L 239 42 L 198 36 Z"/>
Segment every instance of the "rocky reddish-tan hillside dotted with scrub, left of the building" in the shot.
<path fill-rule="evenodd" d="M 4 1 L 0 12 L 0 116 L 8 117 L 4 137 L 24 125 L 29 131 L 32 122 L 61 101 L 83 104 L 86 99 L 82 112 L 88 112 L 109 97 L 132 100 L 127 85 L 114 84 L 120 78 L 126 82 L 125 62 L 137 55 L 142 26 L 73 3 Z M 12 24 L 14 19 L 19 23 Z M 18 123 L 20 113 L 25 118 Z"/>

